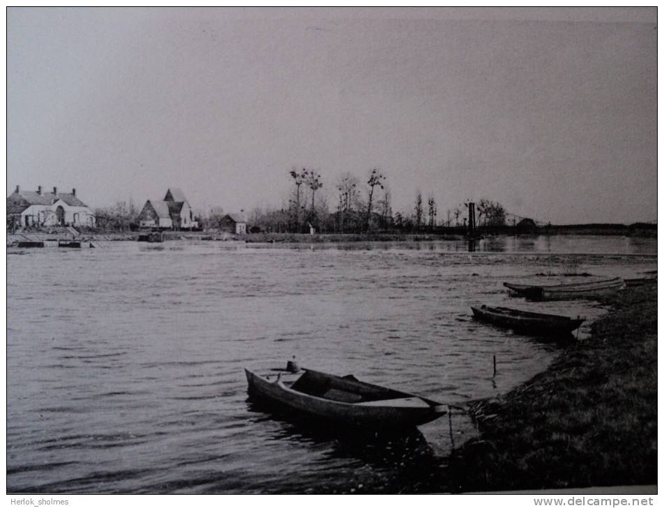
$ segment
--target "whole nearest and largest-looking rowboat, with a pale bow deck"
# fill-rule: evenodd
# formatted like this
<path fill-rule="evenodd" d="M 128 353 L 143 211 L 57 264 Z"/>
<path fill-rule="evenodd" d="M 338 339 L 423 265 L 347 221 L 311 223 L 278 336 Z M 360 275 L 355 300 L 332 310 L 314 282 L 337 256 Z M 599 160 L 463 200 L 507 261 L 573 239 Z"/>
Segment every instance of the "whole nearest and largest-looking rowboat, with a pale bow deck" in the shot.
<path fill-rule="evenodd" d="M 245 369 L 245 374 L 250 397 L 346 427 L 409 429 L 447 414 L 445 404 L 364 383 L 352 375 L 334 376 L 311 369 L 304 370 L 303 374 L 272 376 Z M 296 379 L 282 379 L 289 376 Z"/>

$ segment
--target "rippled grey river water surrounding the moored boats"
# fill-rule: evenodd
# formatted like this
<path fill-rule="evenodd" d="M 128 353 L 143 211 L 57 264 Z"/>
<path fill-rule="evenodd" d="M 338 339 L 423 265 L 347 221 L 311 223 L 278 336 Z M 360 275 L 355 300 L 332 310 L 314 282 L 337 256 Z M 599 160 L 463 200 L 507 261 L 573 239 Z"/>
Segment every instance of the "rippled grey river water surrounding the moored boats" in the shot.
<path fill-rule="evenodd" d="M 463 415 L 389 443 L 310 429 L 247 399 L 243 367 L 301 365 L 449 404 L 507 392 L 561 346 L 471 319 L 502 304 L 588 321 L 592 301 L 532 303 L 505 280 L 642 277 L 656 239 L 99 242 L 8 253 L 10 492 L 378 492 L 441 468 Z M 590 280 L 589 278 L 574 278 Z M 497 372 L 493 374 L 493 356 Z"/>

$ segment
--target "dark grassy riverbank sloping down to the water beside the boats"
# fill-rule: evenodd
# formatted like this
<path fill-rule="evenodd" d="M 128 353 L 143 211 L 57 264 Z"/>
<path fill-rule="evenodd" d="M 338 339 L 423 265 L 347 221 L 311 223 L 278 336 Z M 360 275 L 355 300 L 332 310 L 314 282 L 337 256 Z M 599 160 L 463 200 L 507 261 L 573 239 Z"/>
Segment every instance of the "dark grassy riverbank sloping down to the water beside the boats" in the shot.
<path fill-rule="evenodd" d="M 625 289 L 592 338 L 546 372 L 472 408 L 481 436 L 418 491 L 657 482 L 657 290 Z M 426 485 L 426 486 L 425 486 Z"/>

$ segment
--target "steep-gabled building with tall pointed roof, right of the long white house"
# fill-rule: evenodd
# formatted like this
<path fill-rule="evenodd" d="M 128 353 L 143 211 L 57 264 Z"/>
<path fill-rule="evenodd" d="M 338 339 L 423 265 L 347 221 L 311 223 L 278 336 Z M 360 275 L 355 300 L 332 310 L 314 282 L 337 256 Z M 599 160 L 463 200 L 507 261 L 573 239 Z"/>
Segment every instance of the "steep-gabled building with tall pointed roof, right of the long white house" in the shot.
<path fill-rule="evenodd" d="M 141 228 L 180 230 L 198 227 L 185 193 L 175 188 L 168 189 L 161 201 L 147 200 L 138 220 Z"/>

